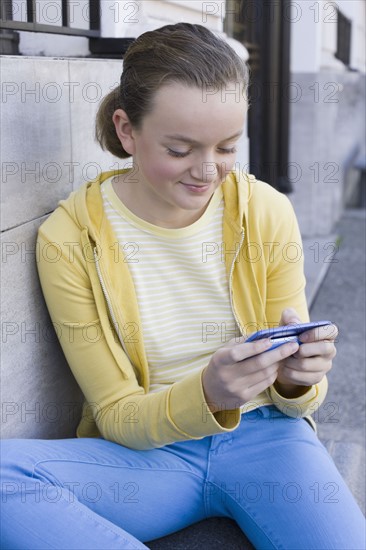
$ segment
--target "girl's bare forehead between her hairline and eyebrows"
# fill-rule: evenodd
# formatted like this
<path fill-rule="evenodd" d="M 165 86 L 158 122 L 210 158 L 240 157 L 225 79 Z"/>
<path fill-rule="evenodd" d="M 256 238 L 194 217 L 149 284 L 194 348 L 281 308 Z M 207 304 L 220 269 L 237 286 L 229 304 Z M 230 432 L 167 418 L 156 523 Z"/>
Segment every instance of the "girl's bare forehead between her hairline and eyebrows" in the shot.
<path fill-rule="evenodd" d="M 159 137 L 181 134 L 199 142 L 220 141 L 243 129 L 246 112 L 239 83 L 222 89 L 172 83 L 157 91 L 143 126 L 154 128 Z"/>

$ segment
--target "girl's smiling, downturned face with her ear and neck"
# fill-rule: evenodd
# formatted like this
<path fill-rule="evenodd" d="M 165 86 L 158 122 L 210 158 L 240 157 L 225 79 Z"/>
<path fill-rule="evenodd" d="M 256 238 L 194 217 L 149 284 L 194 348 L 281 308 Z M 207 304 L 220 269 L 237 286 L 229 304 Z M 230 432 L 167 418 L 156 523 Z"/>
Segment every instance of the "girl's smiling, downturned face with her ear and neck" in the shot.
<path fill-rule="evenodd" d="M 235 163 L 246 111 L 233 85 L 206 93 L 175 83 L 158 90 L 138 131 L 119 109 L 114 122 L 134 170 L 117 181 L 117 194 L 150 223 L 190 225 Z"/>

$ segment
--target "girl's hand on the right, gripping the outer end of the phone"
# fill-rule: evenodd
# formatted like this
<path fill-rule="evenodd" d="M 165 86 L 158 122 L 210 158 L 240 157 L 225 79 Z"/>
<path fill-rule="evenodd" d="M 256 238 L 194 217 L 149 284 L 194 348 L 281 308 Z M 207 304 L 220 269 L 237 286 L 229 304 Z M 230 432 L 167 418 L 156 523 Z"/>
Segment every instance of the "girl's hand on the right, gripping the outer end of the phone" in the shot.
<path fill-rule="evenodd" d="M 301 323 L 292 308 L 282 312 L 280 325 Z M 274 384 L 283 397 L 297 397 L 317 384 L 332 368 L 332 360 L 337 351 L 334 342 L 338 335 L 335 325 L 317 327 L 299 336 L 301 346 L 294 355 L 281 361 Z M 305 387 L 304 387 L 305 386 Z"/>

